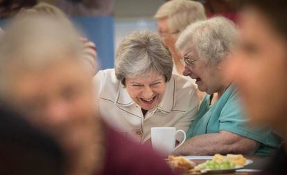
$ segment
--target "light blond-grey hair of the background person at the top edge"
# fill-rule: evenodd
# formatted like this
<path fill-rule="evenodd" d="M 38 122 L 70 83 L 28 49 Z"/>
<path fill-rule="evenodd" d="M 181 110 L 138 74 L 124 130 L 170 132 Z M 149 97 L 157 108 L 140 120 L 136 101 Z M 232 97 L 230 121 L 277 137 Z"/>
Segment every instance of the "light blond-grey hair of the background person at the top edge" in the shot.
<path fill-rule="evenodd" d="M 171 33 L 182 32 L 186 26 L 195 21 L 206 19 L 205 8 L 200 2 L 190 0 L 172 0 L 159 7 L 155 19 L 168 18 Z"/>

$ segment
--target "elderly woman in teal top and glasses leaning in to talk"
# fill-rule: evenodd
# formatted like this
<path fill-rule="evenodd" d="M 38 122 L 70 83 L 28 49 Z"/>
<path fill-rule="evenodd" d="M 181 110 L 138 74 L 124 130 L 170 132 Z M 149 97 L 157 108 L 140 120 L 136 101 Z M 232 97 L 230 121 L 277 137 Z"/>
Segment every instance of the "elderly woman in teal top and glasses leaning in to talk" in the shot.
<path fill-rule="evenodd" d="M 189 127 L 189 140 L 175 154 L 268 155 L 277 149 L 279 140 L 270 130 L 247 126 L 232 79 L 225 78 L 236 37 L 236 27 L 224 17 L 192 24 L 180 35 L 176 46 L 185 64 L 184 75 L 195 79 L 207 95 Z"/>

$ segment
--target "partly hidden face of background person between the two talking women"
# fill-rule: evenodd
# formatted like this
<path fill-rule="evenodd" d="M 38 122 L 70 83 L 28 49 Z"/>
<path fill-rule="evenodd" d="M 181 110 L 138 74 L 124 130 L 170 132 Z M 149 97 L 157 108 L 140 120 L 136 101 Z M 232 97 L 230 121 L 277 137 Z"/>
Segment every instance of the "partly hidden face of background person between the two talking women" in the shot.
<path fill-rule="evenodd" d="M 168 28 L 168 18 L 162 18 L 157 21 L 157 30 L 164 44 L 166 44 L 171 53 L 175 54 L 175 42 L 180 31 L 171 31 Z"/>

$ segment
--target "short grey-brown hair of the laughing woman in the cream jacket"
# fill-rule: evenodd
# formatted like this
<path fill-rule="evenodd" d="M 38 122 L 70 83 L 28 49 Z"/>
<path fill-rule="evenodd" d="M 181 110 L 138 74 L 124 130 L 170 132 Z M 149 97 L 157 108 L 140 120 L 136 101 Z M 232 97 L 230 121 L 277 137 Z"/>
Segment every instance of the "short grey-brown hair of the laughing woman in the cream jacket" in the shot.
<path fill-rule="evenodd" d="M 146 73 L 164 75 L 171 80 L 173 61 L 160 37 L 151 31 L 135 32 L 126 37 L 116 51 L 116 78 L 125 84 L 125 77 L 144 77 Z"/>

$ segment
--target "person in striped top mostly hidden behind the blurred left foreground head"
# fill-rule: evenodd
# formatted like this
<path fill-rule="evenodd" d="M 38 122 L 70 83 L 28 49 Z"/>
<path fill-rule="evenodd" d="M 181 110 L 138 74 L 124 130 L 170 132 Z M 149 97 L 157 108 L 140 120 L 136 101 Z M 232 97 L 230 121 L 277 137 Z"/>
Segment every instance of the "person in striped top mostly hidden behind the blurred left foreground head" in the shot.
<path fill-rule="evenodd" d="M 35 6 L 31 8 L 22 8 L 20 12 L 17 14 L 19 15 L 49 15 L 50 17 L 54 18 L 55 20 L 60 20 L 67 25 L 73 26 L 72 21 L 64 14 L 59 8 L 50 5 L 49 3 L 37 3 Z M 85 63 L 87 64 L 87 68 L 92 73 L 92 75 L 96 75 L 96 59 L 97 59 L 97 48 L 94 42 L 89 41 L 89 39 L 85 37 L 79 37 L 79 42 L 82 47 L 82 51 L 84 53 Z"/>

